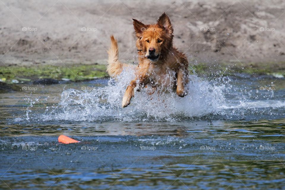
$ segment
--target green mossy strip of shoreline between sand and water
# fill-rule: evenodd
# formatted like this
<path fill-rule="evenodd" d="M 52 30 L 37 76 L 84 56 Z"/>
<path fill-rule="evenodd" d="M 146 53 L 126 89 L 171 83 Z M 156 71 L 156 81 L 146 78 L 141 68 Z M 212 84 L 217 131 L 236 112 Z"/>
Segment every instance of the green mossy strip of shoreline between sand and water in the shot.
<path fill-rule="evenodd" d="M 221 76 L 235 78 L 284 78 L 285 62 L 269 63 L 198 63 L 189 65 L 189 73 L 206 80 Z M 77 83 L 109 77 L 105 64 L 67 66 L 0 66 L 0 93 L 20 90 L 20 84 L 51 85 Z"/>

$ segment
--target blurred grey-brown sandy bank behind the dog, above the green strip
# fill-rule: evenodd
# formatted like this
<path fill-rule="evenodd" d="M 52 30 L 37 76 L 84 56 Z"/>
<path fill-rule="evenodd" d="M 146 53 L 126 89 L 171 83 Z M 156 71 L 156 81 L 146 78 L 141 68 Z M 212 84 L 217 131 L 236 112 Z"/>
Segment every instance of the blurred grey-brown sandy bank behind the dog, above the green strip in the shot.
<path fill-rule="evenodd" d="M 163 12 L 174 26 L 174 45 L 192 64 L 285 58 L 281 0 L 3 3 L 0 65 L 105 64 L 110 34 L 118 39 L 120 59 L 133 62 L 137 52 L 132 18 L 154 23 Z"/>

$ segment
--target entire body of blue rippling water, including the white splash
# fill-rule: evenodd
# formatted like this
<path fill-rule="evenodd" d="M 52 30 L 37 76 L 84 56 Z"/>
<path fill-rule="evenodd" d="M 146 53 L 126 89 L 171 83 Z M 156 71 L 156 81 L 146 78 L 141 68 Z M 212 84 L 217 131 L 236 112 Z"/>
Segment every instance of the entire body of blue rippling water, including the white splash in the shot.
<path fill-rule="evenodd" d="M 0 189 L 284 188 L 284 80 L 192 75 L 121 108 L 121 77 L 1 94 Z"/>

